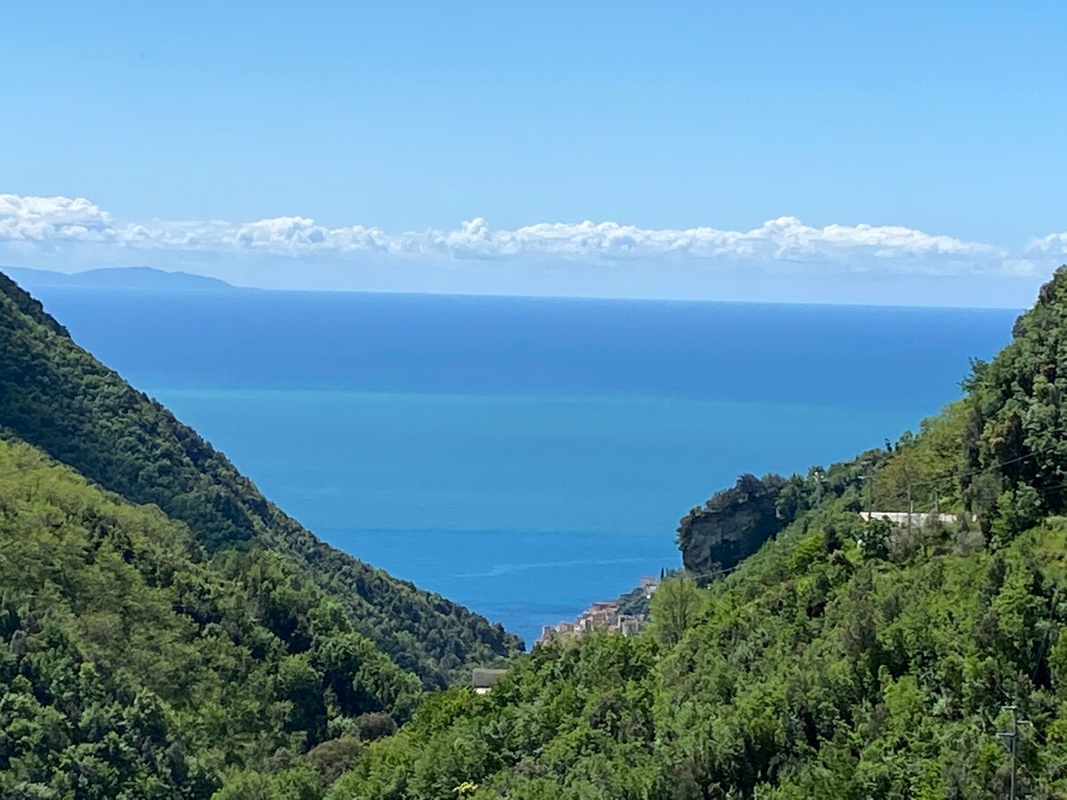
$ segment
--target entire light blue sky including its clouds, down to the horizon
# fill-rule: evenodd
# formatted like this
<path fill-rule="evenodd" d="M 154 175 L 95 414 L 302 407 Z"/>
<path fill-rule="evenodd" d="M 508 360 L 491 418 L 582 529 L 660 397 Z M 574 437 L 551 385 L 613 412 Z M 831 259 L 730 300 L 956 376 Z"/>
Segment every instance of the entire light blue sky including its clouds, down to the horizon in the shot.
<path fill-rule="evenodd" d="M 7 263 L 829 302 L 937 286 L 952 304 L 1022 304 L 1067 260 L 1063 3 L 4 16 Z"/>

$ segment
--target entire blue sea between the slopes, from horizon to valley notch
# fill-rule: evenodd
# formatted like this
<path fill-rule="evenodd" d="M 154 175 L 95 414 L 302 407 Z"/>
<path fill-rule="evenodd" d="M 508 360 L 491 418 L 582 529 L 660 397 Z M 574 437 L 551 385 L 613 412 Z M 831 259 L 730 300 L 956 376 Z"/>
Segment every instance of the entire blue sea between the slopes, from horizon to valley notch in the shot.
<path fill-rule="evenodd" d="M 1010 310 L 39 289 L 319 537 L 504 623 L 674 567 L 738 474 L 895 439 Z"/>

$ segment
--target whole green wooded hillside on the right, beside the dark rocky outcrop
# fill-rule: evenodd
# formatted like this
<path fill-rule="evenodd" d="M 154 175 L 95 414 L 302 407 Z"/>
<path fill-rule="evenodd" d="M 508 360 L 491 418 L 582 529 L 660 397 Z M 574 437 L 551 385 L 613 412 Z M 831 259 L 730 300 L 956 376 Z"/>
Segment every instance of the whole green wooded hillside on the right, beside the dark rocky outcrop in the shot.
<path fill-rule="evenodd" d="M 999 798 L 1005 705 L 1020 796 L 1067 797 L 1067 271 L 1015 334 L 919 434 L 791 478 L 777 537 L 665 581 L 641 636 L 426 703 L 325 797 Z M 958 516 L 859 513 L 909 505 Z"/>

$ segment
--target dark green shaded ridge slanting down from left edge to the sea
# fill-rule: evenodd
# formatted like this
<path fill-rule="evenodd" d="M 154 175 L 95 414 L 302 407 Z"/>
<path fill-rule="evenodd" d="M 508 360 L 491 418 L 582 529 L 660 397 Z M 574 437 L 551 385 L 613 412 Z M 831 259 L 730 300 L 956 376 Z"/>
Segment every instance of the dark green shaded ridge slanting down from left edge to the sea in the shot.
<path fill-rule="evenodd" d="M 75 345 L 2 274 L 0 378 L 0 431 L 133 502 L 159 506 L 209 553 L 259 547 L 277 554 L 425 685 L 444 686 L 472 665 L 521 646 L 499 625 L 317 540 L 194 431 Z"/>

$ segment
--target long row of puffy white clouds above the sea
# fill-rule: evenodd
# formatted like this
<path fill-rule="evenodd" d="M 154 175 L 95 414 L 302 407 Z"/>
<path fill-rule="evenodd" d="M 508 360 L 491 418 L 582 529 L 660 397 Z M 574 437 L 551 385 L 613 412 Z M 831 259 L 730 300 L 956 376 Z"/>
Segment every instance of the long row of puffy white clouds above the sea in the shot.
<path fill-rule="evenodd" d="M 304 217 L 255 222 L 120 221 L 84 198 L 0 195 L 0 245 L 27 253 L 76 250 L 111 260 L 152 253 L 262 254 L 282 257 L 588 263 L 684 260 L 697 265 L 763 266 L 771 271 L 1030 274 L 1042 257 L 1067 253 L 1067 234 L 1035 240 L 1026 258 L 1003 247 L 892 225 L 813 227 L 794 217 L 751 230 L 713 227 L 641 228 L 616 222 L 538 223 L 497 230 L 482 218 L 450 230 L 386 233 L 352 225 L 330 228 Z M 140 255 L 144 254 L 144 255 Z"/>

